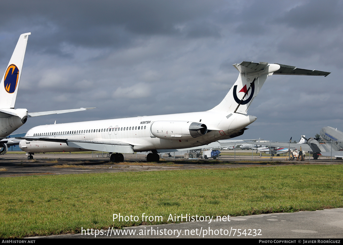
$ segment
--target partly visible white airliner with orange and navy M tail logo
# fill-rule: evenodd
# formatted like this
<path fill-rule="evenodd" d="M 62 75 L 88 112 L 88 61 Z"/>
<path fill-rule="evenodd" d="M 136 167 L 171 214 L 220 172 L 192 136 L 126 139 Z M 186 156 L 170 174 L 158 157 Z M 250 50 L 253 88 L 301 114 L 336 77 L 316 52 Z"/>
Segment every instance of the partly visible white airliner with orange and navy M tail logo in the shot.
<path fill-rule="evenodd" d="M 12 139 L 5 139 L 16 129 L 26 123 L 27 117 L 36 117 L 51 114 L 83 111 L 92 108 L 80 108 L 49 112 L 28 113 L 27 109 L 14 109 L 15 99 L 18 92 L 20 76 L 22 72 L 28 35 L 20 35 L 17 45 L 8 63 L 5 74 L 0 81 L 0 155 L 5 154 L 8 146 L 17 145 Z M 93 107 L 94 108 L 94 107 Z"/>

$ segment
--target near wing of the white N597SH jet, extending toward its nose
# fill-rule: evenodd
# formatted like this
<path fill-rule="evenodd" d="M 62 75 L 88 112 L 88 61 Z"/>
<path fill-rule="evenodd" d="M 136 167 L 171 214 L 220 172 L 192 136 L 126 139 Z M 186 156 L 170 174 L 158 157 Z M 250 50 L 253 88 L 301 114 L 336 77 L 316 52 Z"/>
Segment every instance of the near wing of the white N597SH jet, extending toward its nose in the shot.
<path fill-rule="evenodd" d="M 63 142 L 70 147 L 81 148 L 90 151 L 118 152 L 118 153 L 134 153 L 133 146 L 121 141 L 94 141 L 94 140 L 68 140 L 55 138 L 33 138 L 33 137 L 18 137 L 22 140 L 37 140 L 49 142 Z"/>

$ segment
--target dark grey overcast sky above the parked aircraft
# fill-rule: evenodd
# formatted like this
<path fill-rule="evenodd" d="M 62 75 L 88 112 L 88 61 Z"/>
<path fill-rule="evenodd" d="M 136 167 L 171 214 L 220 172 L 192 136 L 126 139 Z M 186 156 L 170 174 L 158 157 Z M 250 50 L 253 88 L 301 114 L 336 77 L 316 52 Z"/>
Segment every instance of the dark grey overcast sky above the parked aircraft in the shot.
<path fill-rule="evenodd" d="M 280 63 L 327 77 L 267 79 L 237 139 L 343 131 L 343 1 L 2 1 L 0 68 L 28 38 L 15 108 L 90 111 L 29 118 L 16 132 L 73 121 L 206 111 L 238 77 L 232 64 Z"/>

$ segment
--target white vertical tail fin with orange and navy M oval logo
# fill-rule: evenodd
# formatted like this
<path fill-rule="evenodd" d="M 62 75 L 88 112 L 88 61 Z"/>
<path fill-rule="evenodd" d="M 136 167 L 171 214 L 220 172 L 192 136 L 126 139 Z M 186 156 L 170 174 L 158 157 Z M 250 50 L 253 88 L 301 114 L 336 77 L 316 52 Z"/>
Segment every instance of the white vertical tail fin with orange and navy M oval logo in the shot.
<path fill-rule="evenodd" d="M 14 108 L 23 68 L 27 39 L 30 34 L 31 33 L 24 33 L 20 35 L 5 74 L 0 81 L 1 108 Z"/>

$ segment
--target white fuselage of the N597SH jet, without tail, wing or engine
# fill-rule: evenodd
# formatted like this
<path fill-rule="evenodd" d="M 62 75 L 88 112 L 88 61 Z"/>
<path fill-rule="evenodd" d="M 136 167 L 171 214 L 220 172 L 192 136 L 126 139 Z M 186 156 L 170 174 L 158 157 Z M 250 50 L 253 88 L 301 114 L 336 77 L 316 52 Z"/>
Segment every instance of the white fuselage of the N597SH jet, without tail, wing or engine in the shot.
<path fill-rule="evenodd" d="M 230 139 L 232 134 L 256 120 L 256 117 L 233 113 L 193 112 L 157 116 L 141 116 L 78 123 L 42 125 L 30 129 L 26 137 L 57 138 L 68 140 L 125 142 L 133 147 L 133 151 L 151 151 L 157 149 L 182 149 L 192 146 L 205 145 L 217 140 Z M 158 138 L 151 131 L 154 122 L 197 122 L 205 124 L 208 132 L 195 138 L 183 138 L 173 135 L 172 131 L 164 131 L 165 138 Z M 171 136 L 171 137 L 169 137 Z M 233 136 L 235 137 L 235 136 Z M 174 139 L 175 138 L 175 139 Z M 86 151 L 74 148 L 61 142 L 27 141 L 22 140 L 20 149 L 30 153 Z"/>

